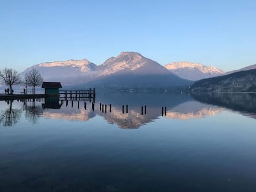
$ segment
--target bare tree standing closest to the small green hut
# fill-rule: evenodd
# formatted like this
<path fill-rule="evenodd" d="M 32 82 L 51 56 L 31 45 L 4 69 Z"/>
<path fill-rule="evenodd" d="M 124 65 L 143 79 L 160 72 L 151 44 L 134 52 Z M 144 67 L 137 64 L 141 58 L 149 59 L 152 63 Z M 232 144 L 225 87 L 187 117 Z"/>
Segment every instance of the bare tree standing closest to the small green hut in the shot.
<path fill-rule="evenodd" d="M 26 73 L 25 78 L 27 79 L 27 84 L 29 86 L 33 86 L 33 94 L 35 94 L 35 87 L 42 85 L 43 76 L 39 74 L 37 69 L 33 68 L 28 73 Z"/>

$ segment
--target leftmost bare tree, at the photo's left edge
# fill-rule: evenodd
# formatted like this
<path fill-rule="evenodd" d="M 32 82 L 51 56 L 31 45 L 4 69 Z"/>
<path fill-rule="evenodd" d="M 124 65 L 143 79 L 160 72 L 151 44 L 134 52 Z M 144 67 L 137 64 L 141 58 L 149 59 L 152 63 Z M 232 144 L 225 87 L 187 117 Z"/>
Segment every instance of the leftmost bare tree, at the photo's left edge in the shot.
<path fill-rule="evenodd" d="M 0 70 L 0 81 L 2 84 L 10 86 L 10 91 L 12 94 L 12 85 L 21 84 L 21 76 L 18 74 L 18 71 L 15 69 L 4 68 Z"/>

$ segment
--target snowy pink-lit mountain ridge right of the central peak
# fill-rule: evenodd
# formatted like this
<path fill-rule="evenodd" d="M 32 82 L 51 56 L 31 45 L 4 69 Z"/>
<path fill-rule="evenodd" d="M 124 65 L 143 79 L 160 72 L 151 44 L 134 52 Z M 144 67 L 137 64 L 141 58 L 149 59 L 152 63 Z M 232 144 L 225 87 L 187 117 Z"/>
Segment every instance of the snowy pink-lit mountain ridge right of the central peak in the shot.
<path fill-rule="evenodd" d="M 180 61 L 171 62 L 164 66 L 173 74 L 191 81 L 223 75 L 224 71 L 212 66 L 204 66 L 201 63 Z"/>

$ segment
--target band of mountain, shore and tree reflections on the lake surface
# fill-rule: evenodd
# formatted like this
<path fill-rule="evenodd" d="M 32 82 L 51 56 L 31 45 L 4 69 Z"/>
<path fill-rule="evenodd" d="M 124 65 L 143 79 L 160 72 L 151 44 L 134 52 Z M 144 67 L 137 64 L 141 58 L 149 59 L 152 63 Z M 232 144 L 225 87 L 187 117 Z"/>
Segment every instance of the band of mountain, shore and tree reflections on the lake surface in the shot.
<path fill-rule="evenodd" d="M 98 93 L 94 111 L 92 103 L 86 101 L 62 101 L 58 98 L 45 99 L 43 102 L 31 100 L 27 102 L 1 102 L 0 125 L 10 126 L 19 121 L 22 111 L 25 118 L 35 124 L 39 118 L 66 119 L 67 121 L 87 121 L 95 116 L 102 116 L 108 123 L 117 124 L 120 128 L 134 129 L 153 122 L 162 117 L 162 107 L 166 106 L 164 118 L 188 120 L 214 116 L 222 110 L 231 109 L 255 118 L 256 94 L 249 93 Z M 13 107 L 15 103 L 15 107 Z M 79 103 L 79 104 L 78 104 Z M 104 110 L 100 110 L 100 103 Z M 111 104 L 111 113 L 109 112 Z M 105 105 L 107 110 L 105 111 Z M 124 113 L 122 106 L 124 105 Z M 126 113 L 128 105 L 128 113 Z M 141 107 L 143 106 L 143 115 Z M 147 113 L 145 114 L 145 106 Z"/>

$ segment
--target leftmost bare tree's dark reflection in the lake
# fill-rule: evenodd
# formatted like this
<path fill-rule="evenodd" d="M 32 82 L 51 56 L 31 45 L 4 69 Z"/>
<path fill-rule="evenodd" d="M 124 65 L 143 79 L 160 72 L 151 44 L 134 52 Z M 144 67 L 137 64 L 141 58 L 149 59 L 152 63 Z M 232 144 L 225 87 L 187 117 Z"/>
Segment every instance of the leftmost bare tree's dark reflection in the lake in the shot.
<path fill-rule="evenodd" d="M 9 105 L 8 109 L 1 111 L 0 115 L 0 125 L 1 126 L 12 126 L 13 124 L 18 123 L 21 117 L 20 109 L 12 109 L 13 100 L 7 100 L 7 105 Z"/>

